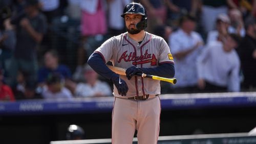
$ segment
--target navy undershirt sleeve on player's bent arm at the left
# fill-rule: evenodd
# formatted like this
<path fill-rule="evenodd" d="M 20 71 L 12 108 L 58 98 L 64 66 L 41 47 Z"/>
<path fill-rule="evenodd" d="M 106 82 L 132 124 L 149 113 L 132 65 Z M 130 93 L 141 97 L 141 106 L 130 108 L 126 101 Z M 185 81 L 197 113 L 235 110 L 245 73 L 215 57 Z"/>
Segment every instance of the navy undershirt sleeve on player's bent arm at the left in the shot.
<path fill-rule="evenodd" d="M 108 66 L 106 66 L 103 58 L 97 53 L 93 53 L 89 57 L 87 63 L 96 71 L 96 73 L 108 80 L 113 81 L 119 77 L 118 74 L 114 73 Z"/>

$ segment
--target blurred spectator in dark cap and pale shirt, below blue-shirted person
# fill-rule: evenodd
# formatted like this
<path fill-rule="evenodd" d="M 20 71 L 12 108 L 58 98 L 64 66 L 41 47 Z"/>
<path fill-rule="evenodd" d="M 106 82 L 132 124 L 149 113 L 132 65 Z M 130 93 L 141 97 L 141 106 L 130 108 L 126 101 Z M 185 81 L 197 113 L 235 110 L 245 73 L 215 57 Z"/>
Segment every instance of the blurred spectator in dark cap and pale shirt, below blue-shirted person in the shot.
<path fill-rule="evenodd" d="M 72 93 L 64 84 L 65 80 L 61 75 L 49 74 L 41 93 L 42 97 L 46 100 L 72 100 Z"/>

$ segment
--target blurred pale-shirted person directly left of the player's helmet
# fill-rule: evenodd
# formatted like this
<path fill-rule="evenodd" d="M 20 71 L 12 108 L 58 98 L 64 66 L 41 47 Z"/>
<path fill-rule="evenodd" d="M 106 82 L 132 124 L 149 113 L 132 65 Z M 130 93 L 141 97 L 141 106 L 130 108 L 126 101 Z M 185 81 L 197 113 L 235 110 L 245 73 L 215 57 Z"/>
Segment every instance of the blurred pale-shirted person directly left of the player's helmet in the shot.
<path fill-rule="evenodd" d="M 108 2 L 109 33 L 111 36 L 119 35 L 125 32 L 123 18 L 120 16 L 123 13 L 123 7 L 130 4 L 132 1 L 109 0 Z"/>

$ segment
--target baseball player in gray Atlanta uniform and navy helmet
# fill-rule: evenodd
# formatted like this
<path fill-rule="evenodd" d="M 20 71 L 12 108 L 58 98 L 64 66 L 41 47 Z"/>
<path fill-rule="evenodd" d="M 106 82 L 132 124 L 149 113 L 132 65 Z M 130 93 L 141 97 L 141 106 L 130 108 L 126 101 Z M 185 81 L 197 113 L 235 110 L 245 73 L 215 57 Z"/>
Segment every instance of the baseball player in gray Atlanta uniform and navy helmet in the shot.
<path fill-rule="evenodd" d="M 160 81 L 135 76 L 136 73 L 172 78 L 174 60 L 162 37 L 145 31 L 147 14 L 144 6 L 130 3 L 121 15 L 127 32 L 106 40 L 90 56 L 88 64 L 114 83 L 112 143 L 131 144 L 137 130 L 140 144 L 157 143 L 160 123 Z M 126 69 L 119 76 L 106 66 Z"/>

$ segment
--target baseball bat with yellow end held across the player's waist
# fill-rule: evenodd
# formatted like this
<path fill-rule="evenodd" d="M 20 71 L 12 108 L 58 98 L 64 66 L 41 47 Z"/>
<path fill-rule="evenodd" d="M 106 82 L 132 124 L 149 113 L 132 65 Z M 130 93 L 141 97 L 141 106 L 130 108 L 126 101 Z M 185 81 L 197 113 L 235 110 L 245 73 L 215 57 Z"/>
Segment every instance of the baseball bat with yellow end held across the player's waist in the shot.
<path fill-rule="evenodd" d="M 116 74 L 118 75 L 123 75 L 125 76 L 125 68 L 121 68 L 121 67 L 116 67 L 116 66 L 112 66 L 112 65 L 107 65 L 112 71 L 114 71 Z M 141 76 L 143 78 L 151 78 L 153 80 L 160 80 L 160 81 L 165 81 L 165 82 L 169 82 L 172 84 L 176 84 L 177 80 L 175 78 L 169 79 L 169 78 L 163 78 L 163 77 L 158 77 L 158 76 L 153 76 L 153 75 L 147 75 L 147 74 L 135 74 L 136 76 Z"/>

